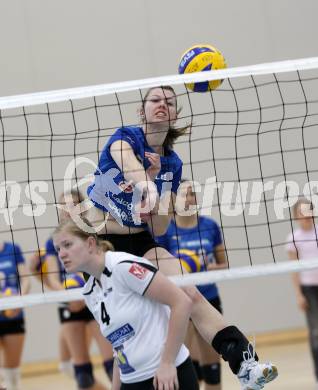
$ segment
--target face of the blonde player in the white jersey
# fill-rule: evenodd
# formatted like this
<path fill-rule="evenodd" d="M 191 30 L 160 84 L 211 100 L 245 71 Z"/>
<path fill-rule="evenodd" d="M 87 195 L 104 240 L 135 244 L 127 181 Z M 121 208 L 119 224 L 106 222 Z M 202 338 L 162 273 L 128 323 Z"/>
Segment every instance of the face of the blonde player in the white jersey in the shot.
<path fill-rule="evenodd" d="M 67 232 L 54 236 L 54 246 L 66 272 L 85 270 L 89 257 L 88 243 Z"/>

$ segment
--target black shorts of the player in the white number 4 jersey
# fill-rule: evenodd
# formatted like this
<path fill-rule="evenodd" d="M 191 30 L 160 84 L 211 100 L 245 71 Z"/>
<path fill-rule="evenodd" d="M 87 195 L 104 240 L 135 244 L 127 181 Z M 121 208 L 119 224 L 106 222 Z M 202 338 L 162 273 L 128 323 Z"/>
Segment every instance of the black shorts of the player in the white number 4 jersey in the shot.
<path fill-rule="evenodd" d="M 177 367 L 179 389 L 199 390 L 197 374 L 190 357 Z M 137 383 L 122 383 L 120 390 L 153 390 L 153 378 Z"/>

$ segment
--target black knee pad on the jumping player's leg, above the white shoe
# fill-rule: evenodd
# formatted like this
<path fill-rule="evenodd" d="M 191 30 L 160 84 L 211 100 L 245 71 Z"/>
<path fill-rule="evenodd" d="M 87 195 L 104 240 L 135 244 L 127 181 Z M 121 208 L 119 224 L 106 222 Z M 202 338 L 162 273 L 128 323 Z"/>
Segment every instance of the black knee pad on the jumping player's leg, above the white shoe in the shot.
<path fill-rule="evenodd" d="M 235 375 L 239 372 L 244 360 L 243 353 L 248 350 L 249 344 L 248 339 L 236 326 L 227 326 L 220 330 L 212 340 L 212 347 L 226 362 L 229 362 Z M 258 360 L 256 353 L 255 360 Z"/>

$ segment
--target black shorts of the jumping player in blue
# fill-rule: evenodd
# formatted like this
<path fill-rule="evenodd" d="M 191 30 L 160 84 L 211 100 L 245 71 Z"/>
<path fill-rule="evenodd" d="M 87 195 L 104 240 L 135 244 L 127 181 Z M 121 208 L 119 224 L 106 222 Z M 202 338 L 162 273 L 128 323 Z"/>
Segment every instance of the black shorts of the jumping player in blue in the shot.
<path fill-rule="evenodd" d="M 135 234 L 101 234 L 98 237 L 111 242 L 115 251 L 127 252 L 138 257 L 143 257 L 152 248 L 162 247 L 146 230 Z"/>

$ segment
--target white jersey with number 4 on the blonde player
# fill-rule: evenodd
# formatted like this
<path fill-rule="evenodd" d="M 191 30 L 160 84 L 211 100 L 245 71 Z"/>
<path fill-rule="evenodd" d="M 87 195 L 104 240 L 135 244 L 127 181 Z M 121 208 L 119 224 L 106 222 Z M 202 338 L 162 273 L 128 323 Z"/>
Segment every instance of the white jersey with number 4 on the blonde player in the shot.
<path fill-rule="evenodd" d="M 160 364 L 170 309 L 144 296 L 156 272 L 144 258 L 108 251 L 100 283 L 91 276 L 84 286 L 86 304 L 113 346 L 123 383 L 152 378 Z M 176 367 L 188 356 L 182 345 Z"/>

